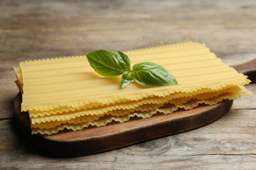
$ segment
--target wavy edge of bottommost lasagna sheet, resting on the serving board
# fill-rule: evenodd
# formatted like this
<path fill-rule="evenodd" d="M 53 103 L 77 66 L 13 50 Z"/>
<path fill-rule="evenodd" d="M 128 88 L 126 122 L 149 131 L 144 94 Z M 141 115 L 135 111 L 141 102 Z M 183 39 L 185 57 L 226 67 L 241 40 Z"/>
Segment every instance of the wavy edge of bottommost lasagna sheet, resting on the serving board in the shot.
<path fill-rule="evenodd" d="M 107 114 L 106 116 L 102 116 L 97 120 L 94 120 L 93 122 L 76 122 L 75 124 L 70 124 L 69 122 L 65 122 L 64 124 L 60 124 L 58 126 L 54 126 L 53 128 L 48 127 L 44 128 L 42 125 L 34 126 L 32 128 L 32 133 L 37 134 L 48 134 L 51 135 L 53 133 L 58 133 L 58 131 L 66 128 L 66 129 L 72 129 L 73 131 L 81 130 L 85 127 L 88 126 L 106 126 L 106 124 L 112 122 L 113 120 L 116 122 L 127 122 L 130 120 L 130 118 L 133 118 L 135 116 L 140 117 L 140 118 L 150 118 L 153 114 L 156 114 L 158 112 L 163 113 L 163 114 L 170 114 L 174 112 L 175 110 L 178 109 L 194 109 L 194 107 L 197 107 L 198 105 L 205 103 L 208 105 L 215 105 L 219 101 L 222 101 L 223 99 L 237 99 L 238 97 L 241 97 L 242 95 L 249 94 L 247 90 L 242 88 L 240 92 L 236 93 L 223 93 L 222 95 L 219 95 L 218 97 L 213 97 L 211 99 L 203 99 L 203 100 L 195 100 L 192 99 L 188 103 L 184 103 L 184 105 L 173 105 L 171 103 L 168 103 L 164 105 L 163 107 L 160 107 L 159 109 L 151 110 L 148 112 L 132 112 L 130 114 L 125 114 L 123 116 L 112 116 L 111 114 Z M 43 127 L 43 128 L 42 128 Z"/>

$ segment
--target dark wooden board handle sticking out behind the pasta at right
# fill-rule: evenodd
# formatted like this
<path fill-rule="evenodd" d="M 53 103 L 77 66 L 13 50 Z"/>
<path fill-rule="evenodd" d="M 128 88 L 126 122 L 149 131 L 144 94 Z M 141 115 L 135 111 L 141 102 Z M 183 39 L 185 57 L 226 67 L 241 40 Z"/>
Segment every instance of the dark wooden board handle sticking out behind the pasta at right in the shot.
<path fill-rule="evenodd" d="M 251 83 L 256 82 L 256 58 L 245 63 L 232 65 L 231 67 L 236 69 L 238 73 L 243 73 L 244 75 L 247 75 L 249 80 L 251 80 Z"/>

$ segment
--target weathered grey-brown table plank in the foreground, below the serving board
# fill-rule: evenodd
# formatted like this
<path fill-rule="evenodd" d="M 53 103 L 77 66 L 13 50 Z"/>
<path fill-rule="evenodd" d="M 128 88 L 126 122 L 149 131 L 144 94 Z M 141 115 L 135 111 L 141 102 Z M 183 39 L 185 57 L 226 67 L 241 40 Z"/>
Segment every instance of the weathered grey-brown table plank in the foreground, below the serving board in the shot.
<path fill-rule="evenodd" d="M 178 135 L 79 158 L 49 158 L 18 135 L 13 120 L 0 122 L 0 167 L 18 169 L 246 169 L 255 167 L 255 110 L 230 110 L 212 124 Z M 26 157 L 24 157 L 26 155 Z M 75 162 L 75 163 L 72 163 Z M 236 168 L 238 167 L 238 168 Z"/>

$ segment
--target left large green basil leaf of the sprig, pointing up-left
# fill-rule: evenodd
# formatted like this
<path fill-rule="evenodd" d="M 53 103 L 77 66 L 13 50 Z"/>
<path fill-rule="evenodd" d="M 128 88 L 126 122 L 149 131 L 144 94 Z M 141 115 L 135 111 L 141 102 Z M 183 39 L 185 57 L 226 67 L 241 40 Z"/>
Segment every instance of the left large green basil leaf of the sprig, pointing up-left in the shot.
<path fill-rule="evenodd" d="M 93 69 L 102 76 L 119 76 L 123 69 L 119 65 L 117 54 L 106 50 L 96 50 L 86 54 Z"/>

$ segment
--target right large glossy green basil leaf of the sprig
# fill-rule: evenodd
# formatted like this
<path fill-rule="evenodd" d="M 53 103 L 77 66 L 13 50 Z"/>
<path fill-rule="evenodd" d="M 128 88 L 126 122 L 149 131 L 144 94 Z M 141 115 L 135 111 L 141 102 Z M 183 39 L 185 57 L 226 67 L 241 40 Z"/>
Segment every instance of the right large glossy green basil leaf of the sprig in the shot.
<path fill-rule="evenodd" d="M 167 69 L 156 63 L 144 62 L 133 65 L 132 78 L 143 86 L 167 86 L 178 84 Z"/>

